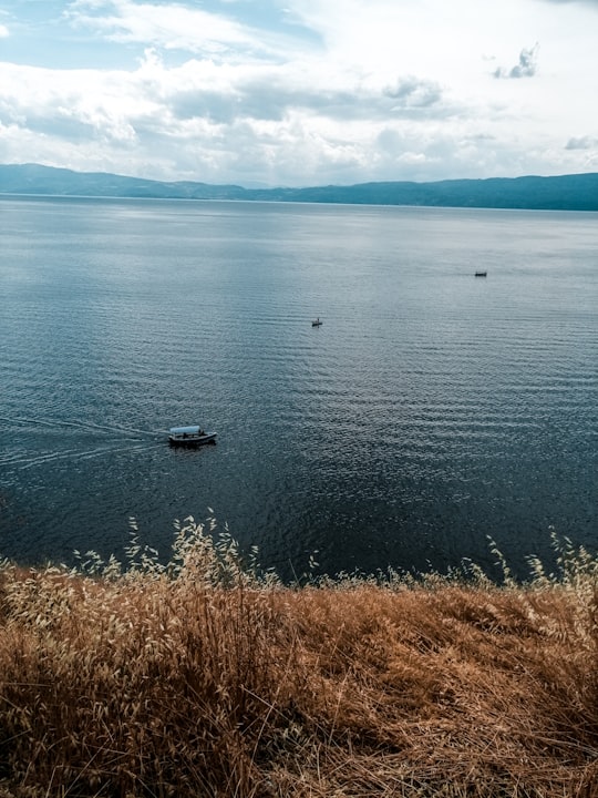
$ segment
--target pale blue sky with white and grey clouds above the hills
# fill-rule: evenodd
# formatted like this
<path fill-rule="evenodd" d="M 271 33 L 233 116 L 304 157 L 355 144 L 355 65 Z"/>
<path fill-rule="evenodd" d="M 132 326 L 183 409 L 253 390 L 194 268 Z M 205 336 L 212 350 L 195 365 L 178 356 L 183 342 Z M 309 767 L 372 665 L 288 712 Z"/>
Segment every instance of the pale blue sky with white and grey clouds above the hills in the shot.
<path fill-rule="evenodd" d="M 598 171 L 598 0 L 2 0 L 0 163 L 255 185 Z"/>

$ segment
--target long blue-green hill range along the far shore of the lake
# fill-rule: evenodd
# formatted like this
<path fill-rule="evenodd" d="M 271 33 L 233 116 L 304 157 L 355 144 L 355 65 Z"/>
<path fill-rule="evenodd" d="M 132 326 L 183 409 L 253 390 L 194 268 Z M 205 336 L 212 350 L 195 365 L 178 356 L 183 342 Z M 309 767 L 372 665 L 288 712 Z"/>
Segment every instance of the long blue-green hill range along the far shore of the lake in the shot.
<path fill-rule="evenodd" d="M 435 183 L 361 183 L 312 188 L 243 188 L 237 185 L 168 183 L 104 172 L 72 172 L 39 164 L 19 164 L 0 165 L 0 194 L 598 211 L 598 174 Z"/>

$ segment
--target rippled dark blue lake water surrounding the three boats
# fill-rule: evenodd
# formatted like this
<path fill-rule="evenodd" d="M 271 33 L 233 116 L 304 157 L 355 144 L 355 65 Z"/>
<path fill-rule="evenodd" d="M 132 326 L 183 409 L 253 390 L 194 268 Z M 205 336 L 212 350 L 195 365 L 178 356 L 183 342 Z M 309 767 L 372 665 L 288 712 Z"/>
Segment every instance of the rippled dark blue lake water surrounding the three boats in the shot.
<path fill-rule="evenodd" d="M 596 214 L 3 198 L 0 303 L 3 555 L 209 509 L 286 576 L 598 544 Z"/>

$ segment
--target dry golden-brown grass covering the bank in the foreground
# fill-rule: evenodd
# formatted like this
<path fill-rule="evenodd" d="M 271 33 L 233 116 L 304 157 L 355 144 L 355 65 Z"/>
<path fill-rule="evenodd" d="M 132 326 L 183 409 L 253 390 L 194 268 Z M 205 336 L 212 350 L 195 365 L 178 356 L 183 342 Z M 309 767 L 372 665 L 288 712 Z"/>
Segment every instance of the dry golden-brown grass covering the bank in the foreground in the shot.
<path fill-rule="evenodd" d="M 167 566 L 0 570 L 0 798 L 598 796 L 598 563 L 289 589 L 193 523 Z"/>

